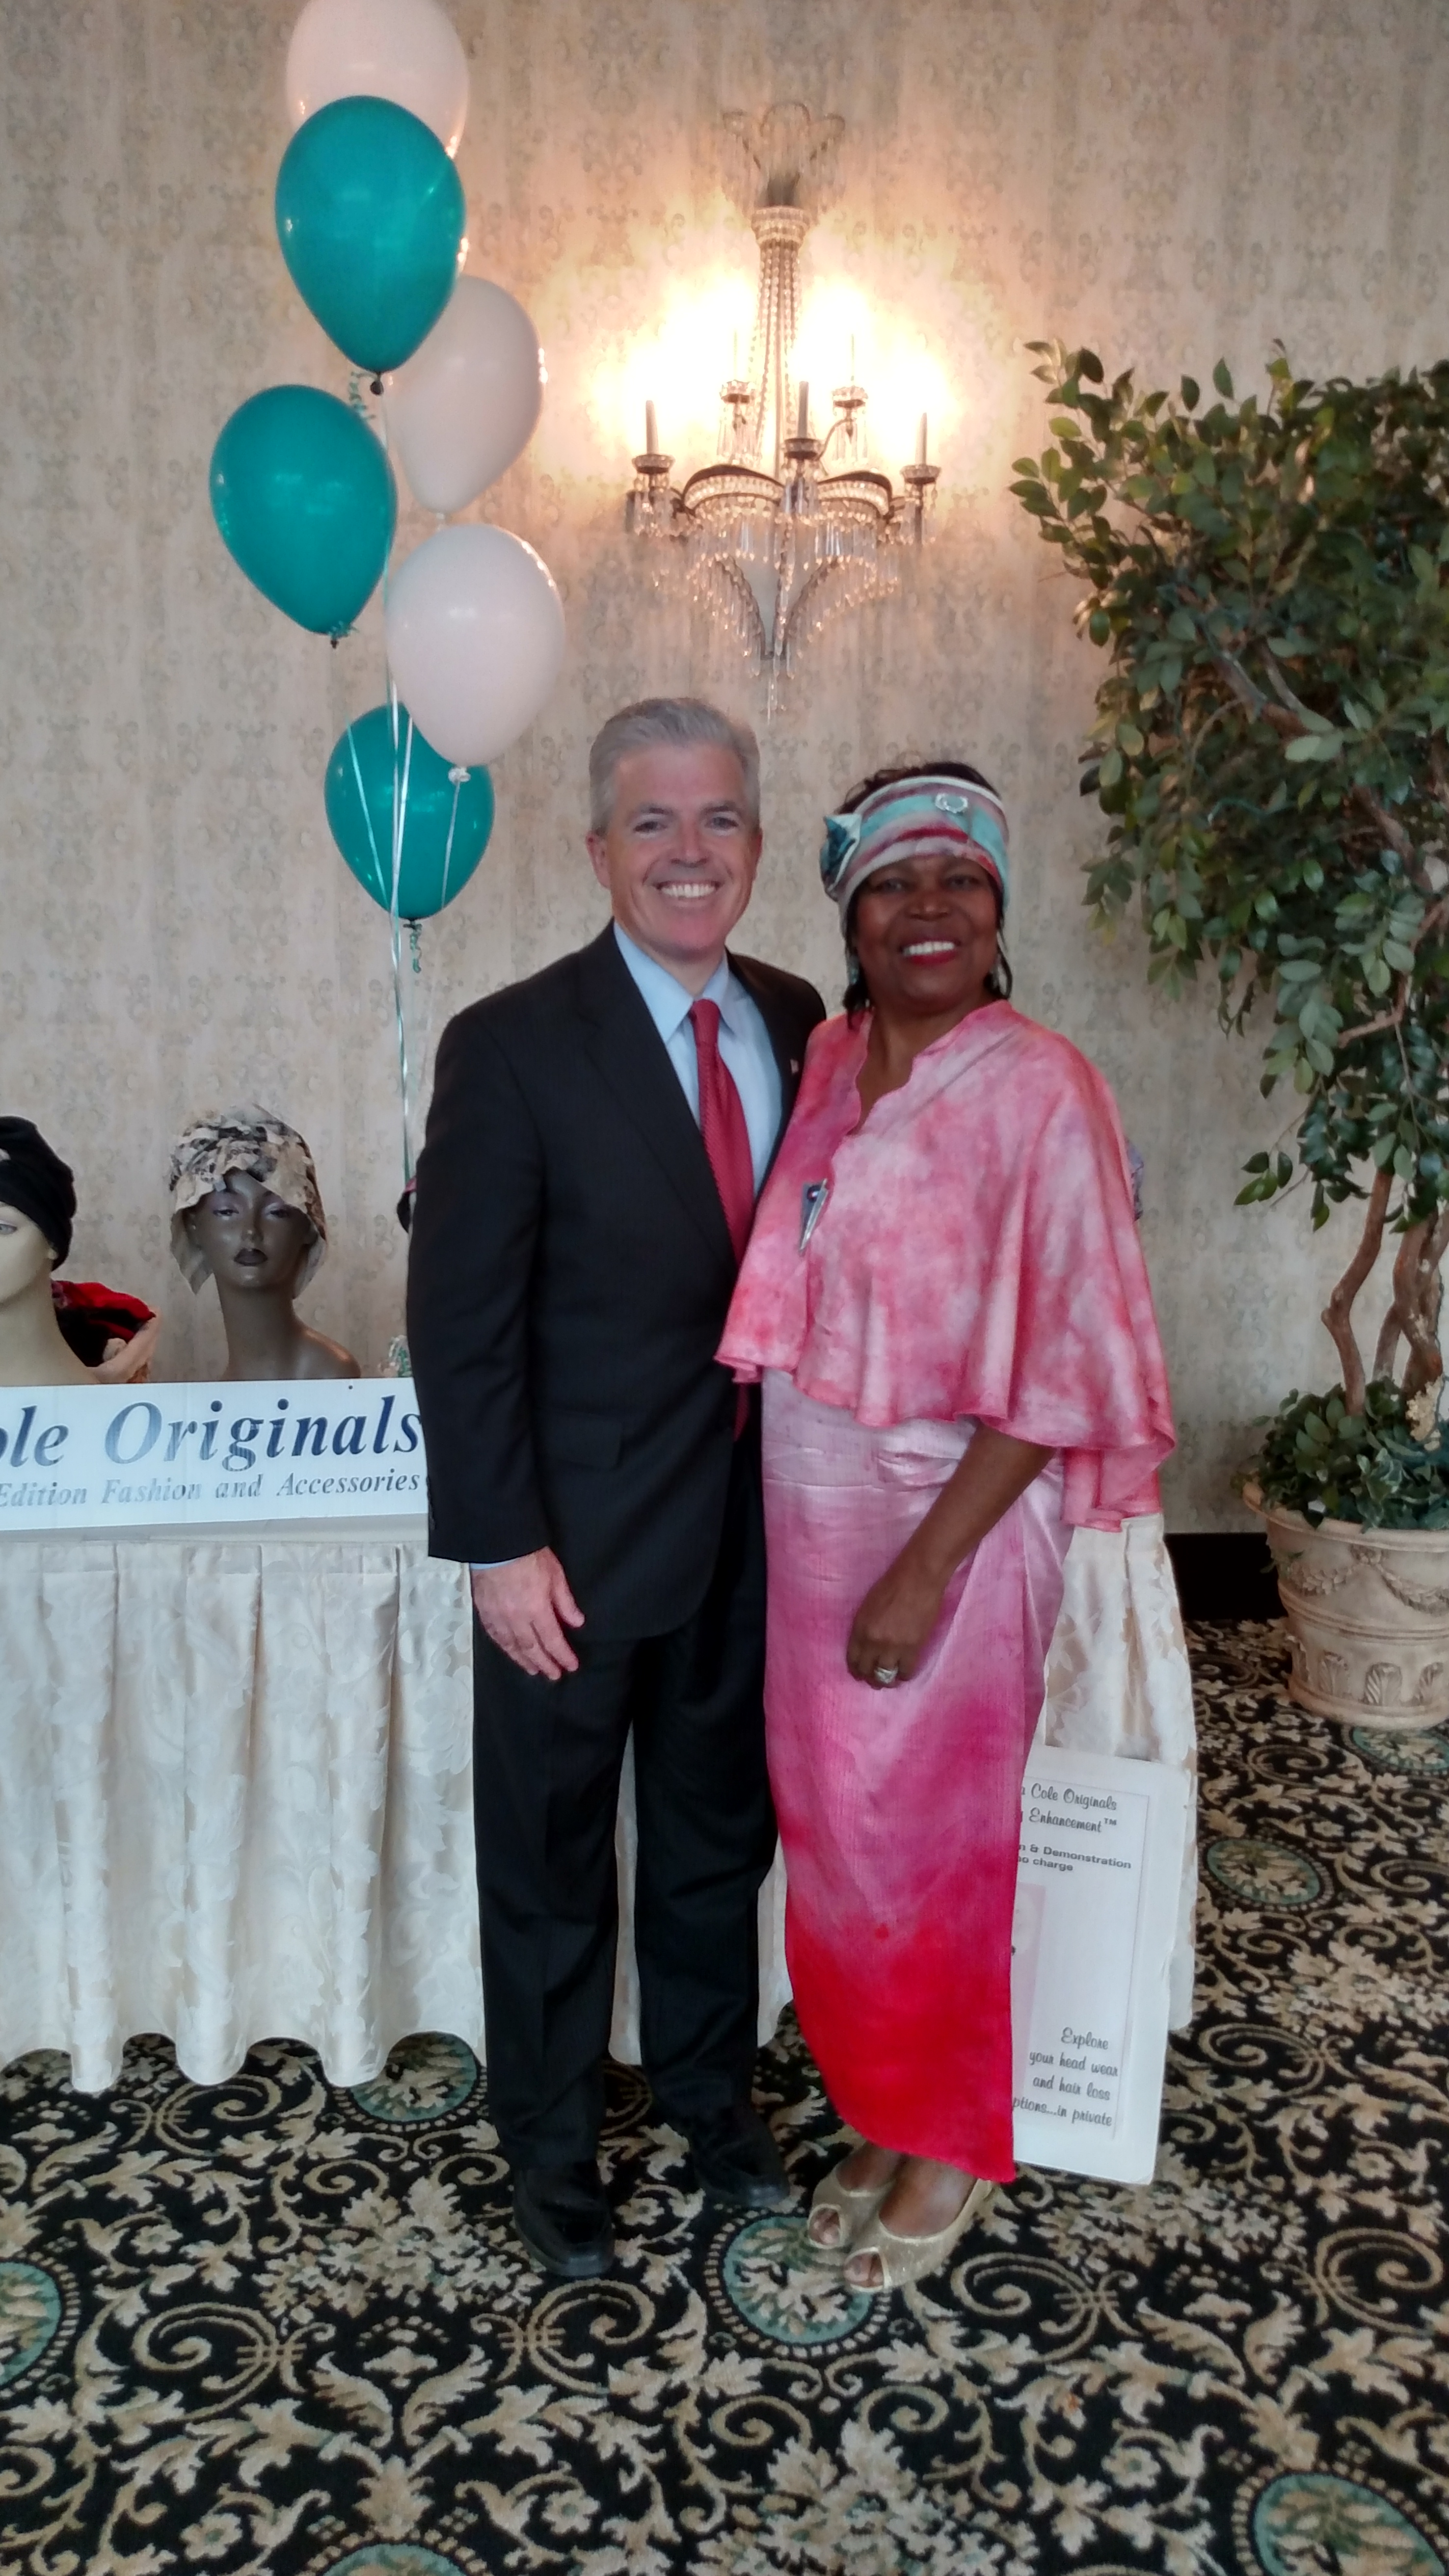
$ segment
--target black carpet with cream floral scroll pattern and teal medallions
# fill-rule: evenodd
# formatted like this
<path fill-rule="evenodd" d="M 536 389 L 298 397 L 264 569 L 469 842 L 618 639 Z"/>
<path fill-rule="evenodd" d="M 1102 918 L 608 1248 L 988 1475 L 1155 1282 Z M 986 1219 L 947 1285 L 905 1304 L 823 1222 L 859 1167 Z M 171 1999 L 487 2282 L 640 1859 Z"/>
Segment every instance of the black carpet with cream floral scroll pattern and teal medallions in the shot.
<path fill-rule="evenodd" d="M 637 2076 L 619 2269 L 544 2285 L 472 2056 L 0 2074 L 5 2576 L 1446 2576 L 1449 1736 L 1196 1633 L 1199 2014 L 1158 2179 L 1024 2172 L 890 2300 L 712 2221 Z M 841 2136 L 761 2058 L 807 2190 Z"/>

